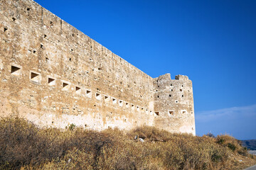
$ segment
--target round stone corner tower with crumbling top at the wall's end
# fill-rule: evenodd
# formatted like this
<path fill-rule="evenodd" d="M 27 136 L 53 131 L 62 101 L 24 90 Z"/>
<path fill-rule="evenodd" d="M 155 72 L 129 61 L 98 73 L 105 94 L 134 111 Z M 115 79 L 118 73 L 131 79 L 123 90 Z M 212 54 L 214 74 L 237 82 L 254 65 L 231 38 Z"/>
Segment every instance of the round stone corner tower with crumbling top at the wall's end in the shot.
<path fill-rule="evenodd" d="M 169 132 L 196 135 L 192 82 L 186 76 L 171 79 L 164 74 L 154 79 L 154 125 Z"/>

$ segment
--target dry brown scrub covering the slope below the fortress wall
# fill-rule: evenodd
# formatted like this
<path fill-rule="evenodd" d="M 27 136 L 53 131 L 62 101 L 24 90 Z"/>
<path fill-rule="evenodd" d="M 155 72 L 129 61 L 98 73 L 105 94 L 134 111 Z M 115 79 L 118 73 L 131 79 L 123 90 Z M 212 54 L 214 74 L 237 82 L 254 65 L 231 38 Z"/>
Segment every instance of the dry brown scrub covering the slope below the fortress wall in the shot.
<path fill-rule="evenodd" d="M 228 135 L 194 137 L 146 126 L 129 132 L 61 131 L 19 118 L 0 120 L 0 169 L 241 169 L 250 164 L 255 157 Z"/>

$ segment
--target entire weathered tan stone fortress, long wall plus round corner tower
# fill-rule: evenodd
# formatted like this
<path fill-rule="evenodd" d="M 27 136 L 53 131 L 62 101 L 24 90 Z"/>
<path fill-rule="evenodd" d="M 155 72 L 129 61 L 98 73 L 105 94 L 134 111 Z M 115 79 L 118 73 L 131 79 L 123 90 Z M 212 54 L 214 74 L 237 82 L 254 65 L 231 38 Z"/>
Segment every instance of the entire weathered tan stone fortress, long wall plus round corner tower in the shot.
<path fill-rule="evenodd" d="M 32 0 L 0 0 L 0 116 L 195 135 L 191 80 L 151 78 Z"/>

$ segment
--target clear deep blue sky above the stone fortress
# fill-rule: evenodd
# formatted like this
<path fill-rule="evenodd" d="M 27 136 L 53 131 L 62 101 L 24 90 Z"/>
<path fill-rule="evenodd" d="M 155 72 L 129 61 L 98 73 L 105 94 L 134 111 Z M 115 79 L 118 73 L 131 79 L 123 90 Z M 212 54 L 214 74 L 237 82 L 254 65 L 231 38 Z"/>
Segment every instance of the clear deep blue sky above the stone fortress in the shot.
<path fill-rule="evenodd" d="M 256 139 L 256 1 L 36 2 L 151 77 L 188 75 L 197 135 Z"/>

